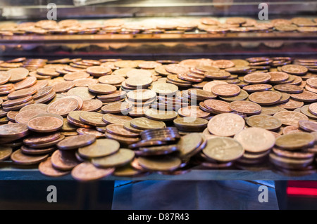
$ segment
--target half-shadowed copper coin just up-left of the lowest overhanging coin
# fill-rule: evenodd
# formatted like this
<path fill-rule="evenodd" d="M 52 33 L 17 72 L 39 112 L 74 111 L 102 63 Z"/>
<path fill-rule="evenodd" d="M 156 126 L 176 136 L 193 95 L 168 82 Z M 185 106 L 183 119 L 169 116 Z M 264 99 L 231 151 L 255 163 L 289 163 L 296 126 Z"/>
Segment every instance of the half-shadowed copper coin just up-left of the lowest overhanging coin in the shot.
<path fill-rule="evenodd" d="M 55 169 L 61 171 L 70 171 L 80 162 L 75 157 L 74 152 L 56 150 L 51 155 L 51 164 Z"/>

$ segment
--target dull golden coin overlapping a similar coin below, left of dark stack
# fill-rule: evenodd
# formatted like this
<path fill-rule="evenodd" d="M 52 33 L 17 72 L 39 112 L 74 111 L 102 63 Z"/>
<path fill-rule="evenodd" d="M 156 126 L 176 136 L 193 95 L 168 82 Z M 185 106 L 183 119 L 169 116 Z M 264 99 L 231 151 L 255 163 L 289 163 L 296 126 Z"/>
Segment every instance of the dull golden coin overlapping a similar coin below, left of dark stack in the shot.
<path fill-rule="evenodd" d="M 106 157 L 110 154 L 118 152 L 120 144 L 112 139 L 97 139 L 92 145 L 80 147 L 78 153 L 80 157 L 92 159 L 98 157 Z"/>

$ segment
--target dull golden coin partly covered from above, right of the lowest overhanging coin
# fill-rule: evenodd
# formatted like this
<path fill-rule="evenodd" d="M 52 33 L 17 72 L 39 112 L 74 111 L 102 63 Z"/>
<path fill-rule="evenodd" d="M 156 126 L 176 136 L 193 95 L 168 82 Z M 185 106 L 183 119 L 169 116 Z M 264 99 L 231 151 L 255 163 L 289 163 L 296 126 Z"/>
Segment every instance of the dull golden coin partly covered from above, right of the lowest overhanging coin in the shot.
<path fill-rule="evenodd" d="M 124 166 L 132 161 L 135 157 L 135 152 L 132 150 L 121 148 L 118 152 L 108 155 L 106 157 L 92 159 L 92 164 L 97 167 L 108 168 Z"/>

